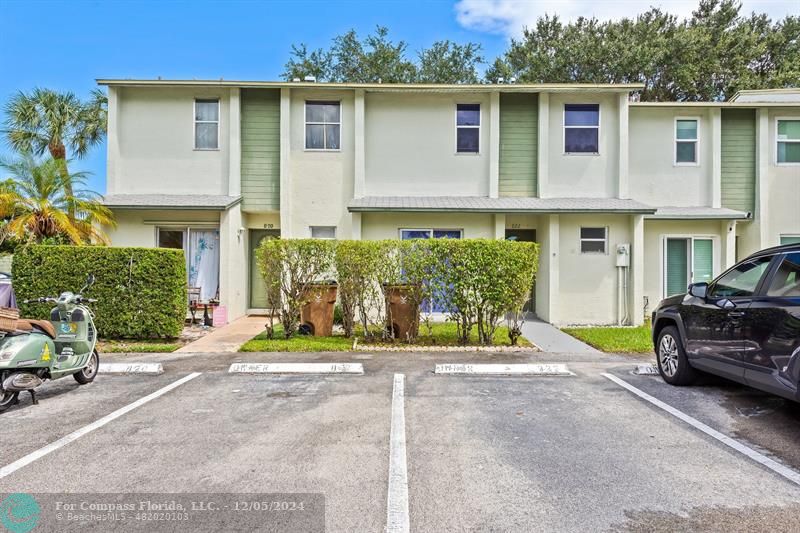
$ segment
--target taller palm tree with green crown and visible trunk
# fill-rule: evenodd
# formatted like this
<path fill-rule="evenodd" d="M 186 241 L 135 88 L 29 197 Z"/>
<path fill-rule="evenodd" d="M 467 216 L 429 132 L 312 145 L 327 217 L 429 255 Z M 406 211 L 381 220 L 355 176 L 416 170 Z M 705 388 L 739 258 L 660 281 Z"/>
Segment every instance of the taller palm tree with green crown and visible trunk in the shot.
<path fill-rule="evenodd" d="M 50 157 L 63 162 L 61 175 L 67 195 L 71 196 L 66 179 L 68 155 L 82 158 L 103 140 L 108 125 L 107 107 L 106 95 L 97 89 L 86 102 L 71 92 L 40 88 L 30 93 L 20 91 L 6 105 L 3 133 L 17 152 L 41 156 L 47 151 Z M 70 215 L 75 214 L 75 209 L 76 206 L 67 205 Z"/>

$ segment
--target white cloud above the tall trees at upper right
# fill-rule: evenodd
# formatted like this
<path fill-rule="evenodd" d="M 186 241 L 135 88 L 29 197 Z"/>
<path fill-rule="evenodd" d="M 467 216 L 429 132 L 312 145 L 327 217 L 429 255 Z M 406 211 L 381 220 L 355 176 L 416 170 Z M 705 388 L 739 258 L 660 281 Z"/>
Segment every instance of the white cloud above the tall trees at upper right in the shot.
<path fill-rule="evenodd" d="M 544 14 L 556 14 L 562 20 L 580 16 L 612 20 L 632 17 L 654 6 L 688 17 L 698 3 L 698 0 L 459 0 L 455 11 L 456 20 L 467 29 L 516 37 L 522 28 L 533 26 Z M 751 11 L 777 19 L 796 14 L 798 9 L 795 0 L 744 0 L 742 13 Z"/>

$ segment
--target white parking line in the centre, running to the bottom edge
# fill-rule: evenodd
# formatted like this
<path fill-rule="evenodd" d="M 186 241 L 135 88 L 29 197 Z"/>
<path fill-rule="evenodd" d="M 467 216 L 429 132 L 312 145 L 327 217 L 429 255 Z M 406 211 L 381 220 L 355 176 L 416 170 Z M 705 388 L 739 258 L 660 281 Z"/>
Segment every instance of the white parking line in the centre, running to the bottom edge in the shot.
<path fill-rule="evenodd" d="M 389 436 L 389 493 L 386 498 L 386 532 L 407 533 L 408 470 L 406 468 L 405 375 L 394 375 L 392 426 Z"/>

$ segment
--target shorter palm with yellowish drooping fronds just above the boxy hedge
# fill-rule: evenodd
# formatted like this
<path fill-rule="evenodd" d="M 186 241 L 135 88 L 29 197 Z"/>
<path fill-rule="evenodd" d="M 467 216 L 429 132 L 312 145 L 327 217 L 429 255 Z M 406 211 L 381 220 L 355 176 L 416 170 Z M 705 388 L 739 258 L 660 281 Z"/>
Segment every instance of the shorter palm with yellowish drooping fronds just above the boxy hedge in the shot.
<path fill-rule="evenodd" d="M 97 193 L 82 188 L 87 174 L 69 174 L 65 166 L 65 161 L 53 158 L 38 163 L 30 154 L 0 162 L 10 174 L 0 182 L 0 216 L 8 219 L 3 237 L 36 243 L 53 237 L 73 244 L 109 243 L 102 226 L 116 226 L 113 214 Z M 68 212 L 70 206 L 75 215 Z"/>

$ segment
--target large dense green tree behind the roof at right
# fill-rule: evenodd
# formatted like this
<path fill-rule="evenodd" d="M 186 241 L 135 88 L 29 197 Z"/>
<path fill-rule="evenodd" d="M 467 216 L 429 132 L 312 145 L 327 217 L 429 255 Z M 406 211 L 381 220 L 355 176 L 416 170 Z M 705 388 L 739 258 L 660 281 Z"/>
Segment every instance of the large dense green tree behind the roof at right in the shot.
<path fill-rule="evenodd" d="M 488 81 L 642 83 L 642 100 L 722 100 L 742 89 L 800 85 L 800 19 L 741 15 L 737 0 L 701 0 L 687 20 L 562 23 L 544 16 L 486 71 Z"/>

